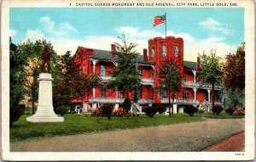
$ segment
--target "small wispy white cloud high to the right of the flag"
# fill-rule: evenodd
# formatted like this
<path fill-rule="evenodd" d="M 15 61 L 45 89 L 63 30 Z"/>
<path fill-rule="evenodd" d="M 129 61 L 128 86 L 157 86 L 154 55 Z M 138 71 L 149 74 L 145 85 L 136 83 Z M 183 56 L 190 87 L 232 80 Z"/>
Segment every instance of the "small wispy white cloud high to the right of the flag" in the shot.
<path fill-rule="evenodd" d="M 234 31 L 230 29 L 230 25 L 219 23 L 212 18 L 207 18 L 207 20 L 200 21 L 199 25 L 202 25 L 203 27 L 211 31 L 220 31 L 225 36 L 232 35 L 234 33 Z"/>

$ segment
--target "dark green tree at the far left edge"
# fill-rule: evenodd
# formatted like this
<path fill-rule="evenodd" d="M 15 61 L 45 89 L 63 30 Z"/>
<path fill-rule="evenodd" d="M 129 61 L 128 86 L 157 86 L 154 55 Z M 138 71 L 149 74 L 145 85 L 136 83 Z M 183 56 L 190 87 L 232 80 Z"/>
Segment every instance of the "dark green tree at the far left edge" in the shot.
<path fill-rule="evenodd" d="M 9 37 L 9 126 L 24 113 L 24 106 L 19 105 L 24 98 L 25 88 L 22 84 L 25 66 L 27 64 L 26 55 L 18 53 L 18 47 Z"/>

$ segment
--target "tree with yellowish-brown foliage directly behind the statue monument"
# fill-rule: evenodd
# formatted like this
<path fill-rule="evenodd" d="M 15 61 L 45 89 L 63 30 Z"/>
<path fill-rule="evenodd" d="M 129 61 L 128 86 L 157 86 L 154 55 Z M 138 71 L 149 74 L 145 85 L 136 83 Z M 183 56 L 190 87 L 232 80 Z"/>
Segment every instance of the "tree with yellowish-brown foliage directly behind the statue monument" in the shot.
<path fill-rule="evenodd" d="M 46 40 L 38 40 L 31 42 L 20 42 L 18 44 L 18 55 L 26 57 L 26 70 L 23 75 L 23 84 L 26 87 L 26 95 L 31 98 L 32 101 L 32 114 L 35 113 L 35 102 L 38 100 L 38 76 L 40 73 L 41 54 L 44 51 L 44 46 L 49 46 L 49 52 L 51 55 L 51 64 L 55 61 L 55 51 L 50 42 Z M 53 68 L 54 69 L 54 68 Z"/>

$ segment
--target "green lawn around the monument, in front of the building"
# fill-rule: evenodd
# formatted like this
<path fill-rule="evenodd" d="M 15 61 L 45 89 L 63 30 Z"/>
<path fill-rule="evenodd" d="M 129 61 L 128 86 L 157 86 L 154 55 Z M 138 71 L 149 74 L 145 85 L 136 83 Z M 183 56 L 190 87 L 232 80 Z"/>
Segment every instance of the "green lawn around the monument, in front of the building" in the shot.
<path fill-rule="evenodd" d="M 92 117 L 90 115 L 65 115 L 64 122 L 61 123 L 30 123 L 26 121 L 27 115 L 22 115 L 20 120 L 10 128 L 10 142 L 19 142 L 35 137 L 54 137 L 63 135 L 74 135 L 79 133 L 119 130 L 136 128 L 142 126 L 160 126 L 193 122 L 203 120 L 200 116 L 186 114 L 154 115 L 149 118 L 146 115 L 137 117 Z"/>

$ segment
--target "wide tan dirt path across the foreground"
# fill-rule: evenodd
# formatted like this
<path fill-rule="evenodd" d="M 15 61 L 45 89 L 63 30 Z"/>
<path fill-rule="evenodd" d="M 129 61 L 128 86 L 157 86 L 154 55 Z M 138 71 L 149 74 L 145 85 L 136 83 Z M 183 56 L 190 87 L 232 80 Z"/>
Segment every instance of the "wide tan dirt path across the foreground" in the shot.
<path fill-rule="evenodd" d="M 201 151 L 244 131 L 244 119 L 50 137 L 11 144 L 11 151 Z"/>

